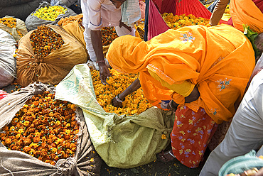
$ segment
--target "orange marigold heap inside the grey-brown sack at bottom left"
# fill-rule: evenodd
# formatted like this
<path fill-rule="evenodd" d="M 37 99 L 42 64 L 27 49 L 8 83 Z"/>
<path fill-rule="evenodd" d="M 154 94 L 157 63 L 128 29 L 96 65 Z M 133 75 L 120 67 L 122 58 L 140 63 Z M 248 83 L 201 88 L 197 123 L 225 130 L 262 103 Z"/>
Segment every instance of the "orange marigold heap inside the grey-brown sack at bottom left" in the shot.
<path fill-rule="evenodd" d="M 54 97 L 46 91 L 28 99 L 11 123 L 1 128 L 1 143 L 51 165 L 73 157 L 79 132 L 76 106 Z"/>

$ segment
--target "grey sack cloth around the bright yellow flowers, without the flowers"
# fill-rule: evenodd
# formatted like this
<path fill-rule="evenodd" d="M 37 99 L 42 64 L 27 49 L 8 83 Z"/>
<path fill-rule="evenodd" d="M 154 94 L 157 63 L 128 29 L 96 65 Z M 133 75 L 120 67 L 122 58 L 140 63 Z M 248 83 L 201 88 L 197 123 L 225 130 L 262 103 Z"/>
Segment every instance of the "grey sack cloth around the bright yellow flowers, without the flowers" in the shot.
<path fill-rule="evenodd" d="M 49 7 L 51 6 L 51 4 L 49 4 L 46 1 L 43 1 L 43 3 L 38 6 L 38 9 L 41 9 L 43 7 Z M 41 25 L 47 25 L 47 24 L 51 24 L 51 25 L 58 25 L 58 21 L 60 21 L 61 18 L 65 18 L 68 16 L 75 16 L 77 15 L 77 13 L 75 13 L 73 10 L 69 9 L 67 6 L 63 6 L 63 8 L 67 9 L 67 11 L 65 11 L 65 13 L 61 13 L 57 16 L 57 18 L 55 18 L 55 21 L 47 21 L 47 20 L 43 20 L 41 18 L 38 18 L 36 16 L 33 15 L 33 13 L 36 13 L 36 11 L 38 11 L 38 9 L 36 9 L 36 11 L 33 11 L 27 18 L 26 18 L 26 28 L 28 29 L 28 31 L 34 30 L 36 28 L 38 28 L 38 26 Z"/>

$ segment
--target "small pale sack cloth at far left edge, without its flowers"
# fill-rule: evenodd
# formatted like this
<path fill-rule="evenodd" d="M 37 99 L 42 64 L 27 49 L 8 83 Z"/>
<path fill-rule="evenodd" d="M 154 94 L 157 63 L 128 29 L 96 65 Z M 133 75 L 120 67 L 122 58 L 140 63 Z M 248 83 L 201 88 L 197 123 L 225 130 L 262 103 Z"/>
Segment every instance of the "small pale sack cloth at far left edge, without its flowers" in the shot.
<path fill-rule="evenodd" d="M 4 18 L 11 18 L 11 16 L 5 16 Z M 21 34 L 26 35 L 28 30 L 26 29 L 26 24 L 18 18 L 14 18 L 16 20 L 16 28 L 10 28 L 5 26 L 3 23 L 0 23 L 0 28 L 8 33 L 11 33 L 16 42 L 20 40 L 21 36 L 18 35 L 17 31 L 21 32 Z"/>

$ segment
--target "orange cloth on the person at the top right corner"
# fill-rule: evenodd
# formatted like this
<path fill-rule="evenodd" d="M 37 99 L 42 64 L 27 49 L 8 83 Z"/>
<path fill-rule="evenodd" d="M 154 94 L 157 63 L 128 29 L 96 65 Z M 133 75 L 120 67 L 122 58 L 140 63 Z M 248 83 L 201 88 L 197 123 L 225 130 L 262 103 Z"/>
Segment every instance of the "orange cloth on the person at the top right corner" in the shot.
<path fill-rule="evenodd" d="M 243 24 L 250 26 L 252 31 L 263 33 L 263 13 L 249 0 L 231 0 L 230 14 L 233 25 L 240 31 L 243 30 Z"/>

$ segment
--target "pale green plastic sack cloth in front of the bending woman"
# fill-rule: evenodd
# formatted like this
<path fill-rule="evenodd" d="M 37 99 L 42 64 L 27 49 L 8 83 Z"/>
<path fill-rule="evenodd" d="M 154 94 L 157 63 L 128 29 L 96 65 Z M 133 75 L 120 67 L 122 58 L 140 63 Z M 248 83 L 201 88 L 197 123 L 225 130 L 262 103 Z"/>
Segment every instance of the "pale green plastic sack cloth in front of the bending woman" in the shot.
<path fill-rule="evenodd" d="M 174 114 L 156 107 L 134 116 L 107 113 L 97 102 L 90 68 L 75 65 L 58 84 L 55 99 L 70 101 L 83 111 L 95 150 L 110 167 L 131 168 L 156 160 L 170 140 Z"/>

